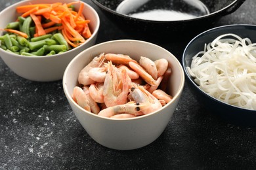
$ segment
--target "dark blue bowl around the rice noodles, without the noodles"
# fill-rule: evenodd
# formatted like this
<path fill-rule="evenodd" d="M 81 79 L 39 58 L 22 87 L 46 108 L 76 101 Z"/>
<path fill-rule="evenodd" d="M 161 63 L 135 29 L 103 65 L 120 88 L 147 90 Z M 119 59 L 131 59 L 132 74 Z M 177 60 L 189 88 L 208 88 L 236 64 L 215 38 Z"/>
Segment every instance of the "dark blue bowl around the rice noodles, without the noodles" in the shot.
<path fill-rule="evenodd" d="M 192 57 L 203 50 L 205 43 L 212 42 L 219 35 L 225 33 L 234 33 L 242 38 L 248 37 L 251 39 L 251 42 L 256 42 L 256 25 L 224 25 L 200 33 L 200 35 L 197 35 L 188 43 L 182 56 L 182 67 L 186 76 L 186 82 L 188 82 L 190 90 L 196 96 L 198 102 L 202 103 L 209 112 L 230 124 L 256 127 L 256 110 L 242 109 L 211 97 L 198 87 L 198 84 L 194 82 L 194 78 L 188 74 L 186 69 L 186 67 L 190 67 Z"/>

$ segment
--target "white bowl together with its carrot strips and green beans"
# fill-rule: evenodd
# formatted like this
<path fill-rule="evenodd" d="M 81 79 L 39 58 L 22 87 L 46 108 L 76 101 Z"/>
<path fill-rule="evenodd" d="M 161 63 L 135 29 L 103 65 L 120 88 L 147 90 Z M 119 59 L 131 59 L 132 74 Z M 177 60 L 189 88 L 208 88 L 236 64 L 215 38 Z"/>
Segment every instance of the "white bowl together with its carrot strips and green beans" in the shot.
<path fill-rule="evenodd" d="M 0 12 L 0 56 L 23 78 L 61 80 L 68 63 L 96 42 L 100 19 L 76 0 L 29 0 Z"/>

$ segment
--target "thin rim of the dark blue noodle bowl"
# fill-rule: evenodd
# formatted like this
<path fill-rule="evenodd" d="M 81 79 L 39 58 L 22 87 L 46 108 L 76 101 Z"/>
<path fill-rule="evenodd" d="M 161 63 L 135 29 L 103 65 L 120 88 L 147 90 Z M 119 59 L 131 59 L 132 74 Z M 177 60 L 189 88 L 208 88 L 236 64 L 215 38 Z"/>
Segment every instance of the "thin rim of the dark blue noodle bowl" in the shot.
<path fill-rule="evenodd" d="M 201 88 L 199 88 L 198 84 L 196 84 L 196 82 L 194 82 L 194 79 L 192 79 L 192 77 L 189 75 L 189 73 L 188 73 L 188 71 L 186 69 L 186 67 L 188 67 L 188 65 L 186 65 L 186 61 L 185 61 L 185 57 L 184 56 L 185 56 L 186 50 L 189 48 L 189 46 L 191 44 L 196 42 L 196 40 L 198 38 L 203 37 L 203 36 L 207 35 L 208 33 L 211 33 L 212 31 L 218 31 L 218 30 L 221 30 L 221 29 L 224 29 L 224 28 L 229 28 L 229 27 L 254 27 L 255 31 L 256 31 L 256 25 L 253 25 L 253 24 L 230 24 L 230 25 L 221 25 L 219 27 L 213 27 L 211 29 L 207 29 L 206 31 L 203 31 L 202 33 L 196 35 L 196 37 L 194 37 L 190 42 L 188 42 L 188 44 L 184 48 L 184 52 L 182 54 L 182 67 L 184 69 L 184 74 L 186 75 L 188 80 L 190 82 L 192 82 L 193 86 L 195 86 L 197 90 L 202 92 L 203 95 L 209 97 L 213 101 L 217 101 L 217 103 L 220 103 L 221 105 L 228 105 L 229 107 L 233 107 L 233 108 L 236 108 L 236 109 L 239 109 L 239 110 L 247 110 L 248 112 L 255 112 L 256 110 L 253 110 L 253 109 L 245 109 L 245 108 L 242 108 L 242 107 L 238 107 L 236 105 L 230 105 L 229 103 L 225 103 L 224 101 L 216 99 L 215 97 L 209 95 L 208 93 L 205 93 Z"/>

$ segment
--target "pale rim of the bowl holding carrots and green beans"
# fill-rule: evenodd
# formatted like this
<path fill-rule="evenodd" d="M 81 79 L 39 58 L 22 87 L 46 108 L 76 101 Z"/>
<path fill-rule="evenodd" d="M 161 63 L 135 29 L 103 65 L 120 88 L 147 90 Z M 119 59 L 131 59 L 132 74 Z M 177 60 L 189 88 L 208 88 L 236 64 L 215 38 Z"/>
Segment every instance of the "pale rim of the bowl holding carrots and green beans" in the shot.
<path fill-rule="evenodd" d="M 20 5 L 21 3 L 30 3 L 30 1 L 33 1 L 33 0 L 19 1 L 19 2 L 17 2 L 17 3 L 14 3 L 14 4 L 10 5 L 9 7 L 7 7 L 6 9 L 1 10 L 0 15 L 1 15 L 3 12 L 5 12 L 6 10 L 11 10 L 13 7 L 18 6 L 18 5 Z M 79 0 L 72 0 L 72 1 L 79 1 Z M 98 29 L 99 29 L 99 27 L 100 27 L 100 17 L 98 16 L 98 13 L 96 12 L 96 10 L 93 9 L 93 7 L 91 7 L 91 5 L 89 5 L 88 3 L 85 3 L 85 2 L 83 2 L 83 1 L 79 1 L 79 2 L 80 2 L 80 3 L 83 3 L 84 5 L 86 5 L 86 6 L 87 6 L 89 9 L 91 9 L 91 11 L 95 14 L 95 16 L 96 16 L 96 26 L 95 26 L 95 30 L 93 31 L 91 37 L 89 37 L 89 39 L 87 39 L 85 42 L 83 42 L 83 44 L 81 44 L 81 45 L 79 45 L 79 46 L 77 46 L 77 47 L 75 47 L 75 48 L 72 48 L 71 50 L 68 50 L 68 51 L 64 52 L 64 54 L 68 54 L 68 53 L 73 52 L 74 50 L 77 50 L 77 49 L 79 49 L 79 48 L 83 48 L 83 46 L 84 46 L 85 44 L 87 44 L 89 41 L 91 41 L 91 39 L 93 39 L 93 38 L 96 36 L 96 34 L 98 33 Z M 1 31 L 0 33 L 3 34 L 2 31 Z M 3 53 L 5 53 L 5 54 L 12 54 L 12 56 L 15 56 L 15 57 L 28 58 L 28 56 L 22 56 L 22 55 L 20 55 L 20 54 L 15 54 L 15 53 L 7 52 L 6 50 L 3 50 L 2 48 L 0 48 L 0 52 L 3 52 Z M 62 53 L 62 54 L 63 54 L 63 53 Z M 58 57 L 58 56 L 60 56 L 60 55 L 62 55 L 62 54 L 53 54 L 52 56 L 29 56 L 29 58 L 35 58 L 35 59 L 37 59 L 37 58 L 55 58 L 55 57 Z"/>

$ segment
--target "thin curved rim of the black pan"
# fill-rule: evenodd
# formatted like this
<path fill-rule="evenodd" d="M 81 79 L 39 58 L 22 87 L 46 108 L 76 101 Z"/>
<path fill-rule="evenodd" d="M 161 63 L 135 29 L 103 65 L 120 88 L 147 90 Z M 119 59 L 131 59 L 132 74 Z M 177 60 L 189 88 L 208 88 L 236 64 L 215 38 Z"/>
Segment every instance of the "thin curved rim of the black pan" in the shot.
<path fill-rule="evenodd" d="M 135 17 L 131 17 L 129 15 L 126 15 L 126 14 L 121 14 L 119 12 L 116 12 L 116 10 L 112 10 L 112 9 L 109 9 L 108 7 L 106 7 L 105 5 L 102 5 L 101 3 L 99 3 L 97 0 L 91 0 L 93 1 L 96 5 L 98 5 L 98 7 L 100 7 L 101 9 L 104 9 L 104 10 L 107 10 L 108 12 L 111 12 L 112 14 L 116 14 L 117 16 L 121 16 L 121 17 L 125 17 L 125 18 L 128 18 L 130 20 L 138 20 L 138 21 L 141 21 L 141 22 L 152 22 L 152 23 L 169 23 L 169 22 L 190 22 L 190 21 L 196 21 L 196 20 L 200 20 L 202 18 L 207 18 L 209 16 L 214 16 L 215 14 L 218 14 L 220 12 L 223 12 L 224 10 L 232 7 L 232 5 L 234 5 L 234 3 L 236 3 L 238 0 L 234 0 L 232 1 L 232 3 L 230 3 L 229 5 L 227 5 L 226 7 L 222 8 L 222 9 L 219 9 L 219 10 L 216 10 L 214 12 L 211 12 L 209 14 L 205 14 L 203 16 L 198 16 L 196 18 L 192 18 L 192 19 L 188 19 L 188 20 L 169 20 L 169 21 L 156 21 L 156 20 L 145 20 L 145 19 L 141 19 L 141 18 L 135 18 Z"/>

